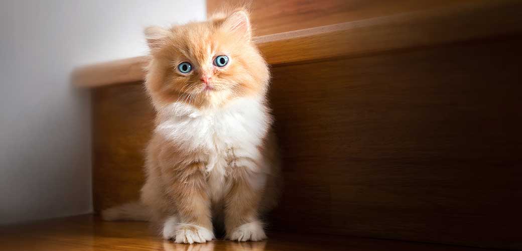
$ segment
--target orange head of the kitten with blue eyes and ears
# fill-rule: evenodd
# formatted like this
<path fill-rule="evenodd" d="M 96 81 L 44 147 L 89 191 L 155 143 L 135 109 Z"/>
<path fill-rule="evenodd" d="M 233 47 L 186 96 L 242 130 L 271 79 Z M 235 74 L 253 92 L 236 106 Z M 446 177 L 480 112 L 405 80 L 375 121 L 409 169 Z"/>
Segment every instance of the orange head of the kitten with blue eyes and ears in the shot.
<path fill-rule="evenodd" d="M 265 95 L 269 71 L 251 41 L 245 11 L 145 33 L 152 56 L 146 87 L 157 108 L 174 102 L 220 106 Z"/>

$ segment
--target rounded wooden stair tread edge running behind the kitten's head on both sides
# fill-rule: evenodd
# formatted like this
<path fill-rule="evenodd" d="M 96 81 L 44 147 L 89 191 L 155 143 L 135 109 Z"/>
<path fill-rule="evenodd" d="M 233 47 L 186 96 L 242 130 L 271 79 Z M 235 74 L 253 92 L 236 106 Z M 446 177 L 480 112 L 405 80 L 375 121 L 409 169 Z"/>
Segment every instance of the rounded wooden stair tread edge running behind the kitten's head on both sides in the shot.
<path fill-rule="evenodd" d="M 257 37 L 271 65 L 363 56 L 414 47 L 490 39 L 522 33 L 520 1 L 474 1 L 434 10 L 376 17 L 325 27 Z M 76 69 L 72 81 L 96 87 L 144 79 L 147 57 L 129 58 Z"/>

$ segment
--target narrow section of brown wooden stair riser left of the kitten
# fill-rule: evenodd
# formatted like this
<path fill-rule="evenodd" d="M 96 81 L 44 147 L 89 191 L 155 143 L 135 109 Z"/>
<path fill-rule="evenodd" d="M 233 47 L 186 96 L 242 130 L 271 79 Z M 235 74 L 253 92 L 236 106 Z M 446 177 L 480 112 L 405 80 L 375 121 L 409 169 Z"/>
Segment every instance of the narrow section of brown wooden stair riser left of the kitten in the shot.
<path fill-rule="evenodd" d="M 93 89 L 92 194 L 96 211 L 137 200 L 154 110 L 140 82 Z"/>

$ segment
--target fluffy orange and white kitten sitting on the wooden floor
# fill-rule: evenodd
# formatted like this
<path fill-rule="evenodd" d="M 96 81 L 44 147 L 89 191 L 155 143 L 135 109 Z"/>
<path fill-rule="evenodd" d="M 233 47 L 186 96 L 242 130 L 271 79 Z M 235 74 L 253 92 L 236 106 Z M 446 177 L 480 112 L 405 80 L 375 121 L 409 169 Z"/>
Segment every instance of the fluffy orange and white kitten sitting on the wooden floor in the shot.
<path fill-rule="evenodd" d="M 147 180 L 138 204 L 103 217 L 159 222 L 176 243 L 212 240 L 212 219 L 230 240 L 264 240 L 260 216 L 277 204 L 281 175 L 270 74 L 246 11 L 145 33 L 146 88 L 157 111 Z"/>

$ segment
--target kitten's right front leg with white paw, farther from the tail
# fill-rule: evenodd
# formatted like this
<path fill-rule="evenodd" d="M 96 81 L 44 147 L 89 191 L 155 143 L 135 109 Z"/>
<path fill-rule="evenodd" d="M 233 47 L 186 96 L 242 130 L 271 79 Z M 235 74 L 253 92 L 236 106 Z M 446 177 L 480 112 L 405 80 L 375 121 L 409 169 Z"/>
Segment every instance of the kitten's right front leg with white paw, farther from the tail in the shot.
<path fill-rule="evenodd" d="M 227 238 L 239 242 L 265 240 L 263 222 L 258 217 L 265 174 L 234 166 L 229 177 L 231 186 L 224 209 Z"/>

